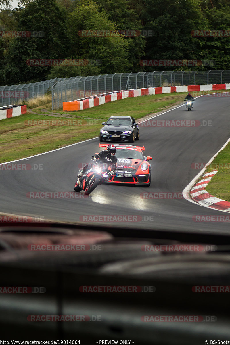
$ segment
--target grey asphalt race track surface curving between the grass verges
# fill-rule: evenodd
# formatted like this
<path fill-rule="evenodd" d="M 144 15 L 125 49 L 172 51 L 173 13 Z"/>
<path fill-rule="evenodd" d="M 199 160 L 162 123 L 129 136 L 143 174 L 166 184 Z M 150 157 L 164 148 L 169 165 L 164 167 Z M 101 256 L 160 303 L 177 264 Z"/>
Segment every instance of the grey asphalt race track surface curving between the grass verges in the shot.
<path fill-rule="evenodd" d="M 89 162 L 92 154 L 99 151 L 96 138 L 17 162 L 32 167 L 40 164 L 42 169 L 1 170 L 0 211 L 73 223 L 81 222 L 81 215 L 138 215 L 142 220 L 113 225 L 229 233 L 229 222 L 199 222 L 192 218 L 227 213 L 201 207 L 182 197 L 183 189 L 201 170 L 194 169 L 194 163 L 206 164 L 230 137 L 229 106 L 229 97 L 202 96 L 194 101 L 191 111 L 183 105 L 152 119 L 196 120 L 198 126 L 151 126 L 152 120 L 148 120 L 150 126 L 140 127 L 140 140 L 130 145 L 144 145 L 144 154 L 153 157 L 149 188 L 101 185 L 87 198 L 28 197 L 29 192 L 73 191 L 79 164 Z M 181 194 L 174 199 L 143 199 L 143 192 Z M 111 226 L 111 222 L 104 221 L 94 224 Z"/>

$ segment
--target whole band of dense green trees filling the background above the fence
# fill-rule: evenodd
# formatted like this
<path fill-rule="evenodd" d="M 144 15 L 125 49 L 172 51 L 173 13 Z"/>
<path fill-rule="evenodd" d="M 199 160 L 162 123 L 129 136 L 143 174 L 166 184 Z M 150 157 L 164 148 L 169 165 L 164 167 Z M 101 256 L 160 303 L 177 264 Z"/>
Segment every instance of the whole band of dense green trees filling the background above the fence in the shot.
<path fill-rule="evenodd" d="M 0 85 L 107 73 L 230 70 L 230 0 L 20 0 L 19 4 L 16 9 L 10 8 L 9 0 L 0 4 Z M 107 34 L 95 36 L 97 30 Z M 218 31 L 207 36 L 203 30 Z M 22 31 L 42 34 L 16 37 Z M 9 32 L 14 32 L 12 37 Z M 158 66 L 143 65 L 141 60 L 202 63 Z"/>

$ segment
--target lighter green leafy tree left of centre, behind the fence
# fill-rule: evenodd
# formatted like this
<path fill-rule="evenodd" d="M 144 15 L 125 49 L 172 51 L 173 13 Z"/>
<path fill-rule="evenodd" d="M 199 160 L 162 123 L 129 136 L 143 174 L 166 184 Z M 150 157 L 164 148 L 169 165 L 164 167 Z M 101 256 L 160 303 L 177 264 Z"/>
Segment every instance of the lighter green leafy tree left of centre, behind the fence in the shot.
<path fill-rule="evenodd" d="M 99 12 L 91 0 L 77 3 L 69 13 L 69 33 L 73 45 L 71 56 L 75 58 L 102 60 L 101 73 L 127 72 L 131 67 L 128 59 L 128 43 L 121 36 L 93 36 L 90 30 L 115 30 L 107 14 Z M 85 35 L 81 30 L 88 30 Z M 81 31 L 81 32 L 79 32 Z"/>

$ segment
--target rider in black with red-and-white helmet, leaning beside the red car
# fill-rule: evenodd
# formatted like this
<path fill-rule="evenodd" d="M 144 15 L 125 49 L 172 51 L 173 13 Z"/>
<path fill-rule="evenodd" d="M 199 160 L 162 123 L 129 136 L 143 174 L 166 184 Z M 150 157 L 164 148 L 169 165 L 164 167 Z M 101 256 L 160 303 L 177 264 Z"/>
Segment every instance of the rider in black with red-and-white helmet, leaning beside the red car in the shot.
<path fill-rule="evenodd" d="M 99 152 L 98 154 L 92 156 L 95 160 L 100 159 L 100 161 L 102 163 L 106 163 L 108 164 L 108 170 L 109 172 L 111 172 L 111 174 L 113 175 L 115 170 L 117 169 L 117 157 L 115 156 L 116 154 L 116 147 L 114 145 L 108 145 L 106 150 L 102 150 L 101 152 Z M 78 174 L 78 177 L 81 177 L 84 172 L 86 172 L 87 170 L 90 169 L 90 164 L 87 164 Z"/>

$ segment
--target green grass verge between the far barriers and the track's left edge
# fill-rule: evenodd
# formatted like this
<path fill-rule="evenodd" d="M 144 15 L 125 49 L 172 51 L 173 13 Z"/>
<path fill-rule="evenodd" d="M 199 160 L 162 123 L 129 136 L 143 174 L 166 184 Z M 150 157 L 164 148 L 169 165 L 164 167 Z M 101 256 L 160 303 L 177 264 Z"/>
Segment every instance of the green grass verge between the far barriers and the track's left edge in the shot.
<path fill-rule="evenodd" d="M 126 98 L 80 111 L 54 110 L 54 116 L 48 115 L 48 111 L 52 111 L 49 107 L 44 109 L 44 106 L 40 106 L 31 110 L 36 114 L 28 110 L 27 114 L 1 120 L 0 162 L 33 156 L 97 137 L 102 127 L 101 122 L 106 121 L 109 116 L 125 115 L 140 119 L 181 102 L 183 94 L 184 92 Z M 38 122 L 39 120 L 46 122 Z M 60 125 L 64 123 L 60 121 L 66 121 L 66 125 Z M 52 125 L 54 123 L 59 125 Z"/>

